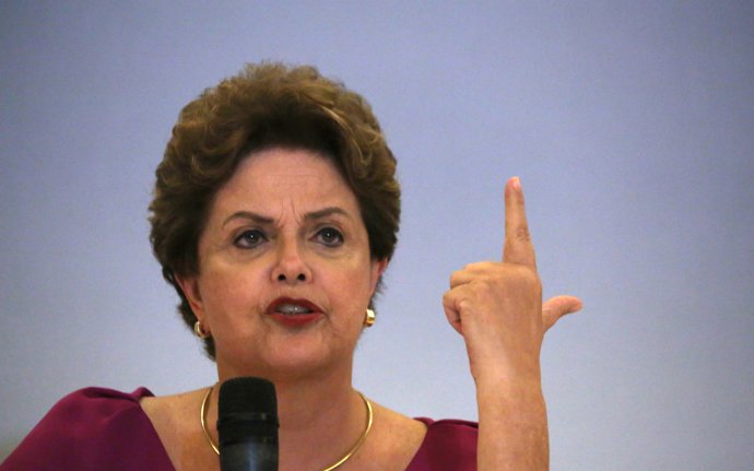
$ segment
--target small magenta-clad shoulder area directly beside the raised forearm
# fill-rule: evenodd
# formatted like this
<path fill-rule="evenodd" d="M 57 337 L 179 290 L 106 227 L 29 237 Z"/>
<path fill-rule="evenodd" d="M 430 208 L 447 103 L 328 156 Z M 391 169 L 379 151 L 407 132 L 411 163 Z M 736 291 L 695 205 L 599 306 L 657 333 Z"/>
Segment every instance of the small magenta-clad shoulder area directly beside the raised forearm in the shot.
<path fill-rule="evenodd" d="M 408 471 L 475 470 L 479 425 L 475 422 L 417 417 L 427 427 Z"/>

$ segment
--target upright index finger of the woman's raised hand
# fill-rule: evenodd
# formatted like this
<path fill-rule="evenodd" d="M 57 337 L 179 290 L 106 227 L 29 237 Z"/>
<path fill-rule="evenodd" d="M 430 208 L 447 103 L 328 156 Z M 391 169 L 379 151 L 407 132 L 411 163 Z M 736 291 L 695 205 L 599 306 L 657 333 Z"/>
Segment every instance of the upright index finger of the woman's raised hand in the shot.
<path fill-rule="evenodd" d="M 527 213 L 523 208 L 523 190 L 518 177 L 505 185 L 505 245 L 503 261 L 519 263 L 537 270 L 534 245 L 531 243 Z"/>

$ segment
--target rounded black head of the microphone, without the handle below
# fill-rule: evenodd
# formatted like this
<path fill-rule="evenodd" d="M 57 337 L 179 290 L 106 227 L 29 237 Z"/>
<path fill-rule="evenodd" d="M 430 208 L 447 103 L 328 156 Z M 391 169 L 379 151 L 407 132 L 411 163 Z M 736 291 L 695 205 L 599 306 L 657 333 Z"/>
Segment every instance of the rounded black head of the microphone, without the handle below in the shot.
<path fill-rule="evenodd" d="M 220 386 L 217 435 L 224 445 L 278 441 L 275 386 L 263 378 L 238 377 Z"/>

